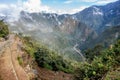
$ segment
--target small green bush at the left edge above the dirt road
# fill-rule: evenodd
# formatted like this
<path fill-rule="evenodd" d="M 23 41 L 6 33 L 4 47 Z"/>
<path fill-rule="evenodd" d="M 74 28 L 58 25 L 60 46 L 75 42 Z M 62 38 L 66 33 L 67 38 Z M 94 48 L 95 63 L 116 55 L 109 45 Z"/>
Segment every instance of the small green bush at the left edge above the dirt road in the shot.
<path fill-rule="evenodd" d="M 8 26 L 3 21 L 0 21 L 0 37 L 7 38 L 8 34 Z"/>

